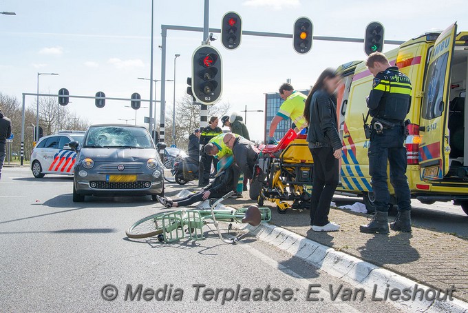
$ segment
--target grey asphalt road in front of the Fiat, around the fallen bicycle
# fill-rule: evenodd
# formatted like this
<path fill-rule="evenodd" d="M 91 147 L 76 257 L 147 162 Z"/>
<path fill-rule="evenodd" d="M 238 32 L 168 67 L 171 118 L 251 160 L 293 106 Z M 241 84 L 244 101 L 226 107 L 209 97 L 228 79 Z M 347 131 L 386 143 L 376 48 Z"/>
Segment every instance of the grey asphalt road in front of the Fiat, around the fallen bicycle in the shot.
<path fill-rule="evenodd" d="M 0 203 L 0 312 L 398 312 L 371 294 L 342 301 L 361 293 L 254 237 L 129 240 L 131 223 L 164 210 L 149 196 L 73 203 L 70 177 L 5 168 Z"/>

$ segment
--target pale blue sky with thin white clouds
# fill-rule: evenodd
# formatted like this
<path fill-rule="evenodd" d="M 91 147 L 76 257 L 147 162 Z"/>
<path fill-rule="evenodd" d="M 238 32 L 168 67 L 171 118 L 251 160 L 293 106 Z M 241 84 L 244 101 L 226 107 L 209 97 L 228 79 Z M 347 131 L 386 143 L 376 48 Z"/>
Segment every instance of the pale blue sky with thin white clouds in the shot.
<path fill-rule="evenodd" d="M 380 4 L 380 5 L 379 5 Z M 151 57 L 151 0 L 0 0 L 0 92 L 22 101 L 24 92 L 56 94 L 67 88 L 72 95 L 130 98 L 138 92 L 149 99 Z M 209 26 L 220 28 L 226 12 L 242 17 L 243 30 L 292 34 L 299 17 L 313 23 L 313 34 L 326 37 L 363 38 L 365 26 L 379 21 L 385 39 L 406 41 L 429 30 L 443 30 L 458 22 L 458 30 L 468 31 L 465 1 L 394 0 L 382 2 L 315 0 L 211 0 Z M 203 27 L 204 0 L 154 0 L 153 79 L 161 77 L 161 25 Z M 233 111 L 264 110 L 265 93 L 276 92 L 290 79 L 295 89 L 307 89 L 322 70 L 364 60 L 362 43 L 313 41 L 308 54 L 297 54 L 292 39 L 242 37 L 236 50 L 222 46 L 220 34 L 211 45 L 223 61 L 221 103 Z M 193 51 L 202 43 L 202 32 L 169 30 L 167 34 L 166 79 L 174 79 L 175 102 L 184 97 L 191 76 Z M 383 52 L 397 46 L 385 45 Z M 157 83 L 156 99 L 160 99 Z M 166 85 L 166 114 L 173 107 L 174 83 Z M 154 88 L 154 85 L 153 85 Z M 154 97 L 154 96 L 153 96 Z M 34 97 L 25 105 L 35 108 Z M 94 99 L 71 99 L 69 110 L 89 123 L 123 123 L 134 119 L 135 111 L 126 101 L 107 100 L 96 108 Z M 142 104 L 148 106 L 148 104 Z M 35 109 L 34 109 L 35 110 Z M 156 105 L 160 117 L 160 105 Z M 244 112 L 241 112 L 244 117 Z M 252 140 L 264 138 L 264 113 L 246 112 Z M 149 109 L 137 112 L 137 123 Z M 129 121 L 134 123 L 134 121 Z M 18 128 L 17 128 L 18 129 Z M 19 133 L 19 130 L 17 131 Z"/>

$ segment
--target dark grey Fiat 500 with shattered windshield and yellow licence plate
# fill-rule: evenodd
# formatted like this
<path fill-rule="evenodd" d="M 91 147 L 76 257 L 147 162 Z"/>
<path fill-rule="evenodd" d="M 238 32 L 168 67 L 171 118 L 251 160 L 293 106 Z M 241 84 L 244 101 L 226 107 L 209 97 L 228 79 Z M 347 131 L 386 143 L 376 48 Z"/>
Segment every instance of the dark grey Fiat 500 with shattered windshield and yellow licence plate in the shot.
<path fill-rule="evenodd" d="M 146 128 L 136 125 L 91 125 L 76 150 L 73 201 L 85 196 L 164 195 L 162 163 Z"/>

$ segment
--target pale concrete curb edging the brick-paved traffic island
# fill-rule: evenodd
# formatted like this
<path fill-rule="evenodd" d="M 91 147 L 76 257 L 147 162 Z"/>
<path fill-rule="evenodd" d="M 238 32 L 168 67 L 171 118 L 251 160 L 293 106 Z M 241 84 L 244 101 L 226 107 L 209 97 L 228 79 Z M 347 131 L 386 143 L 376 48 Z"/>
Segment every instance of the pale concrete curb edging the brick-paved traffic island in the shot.
<path fill-rule="evenodd" d="M 447 301 L 427 299 L 432 298 L 432 296 L 436 298 L 437 290 L 326 245 L 316 243 L 284 228 L 262 223 L 257 227 L 246 225 L 241 229 L 248 230 L 258 239 L 319 267 L 320 270 L 334 277 L 363 287 L 366 294 L 372 294 L 376 290 L 373 301 L 382 301 L 381 299 L 385 299 L 385 291 L 392 289 L 408 290 L 410 294 L 415 296 L 414 290 L 417 288 L 424 290 L 425 295 L 420 296 L 422 292 L 418 292 L 414 300 L 398 299 L 393 301 L 387 299 L 386 301 L 402 310 L 411 310 L 412 312 L 468 312 L 468 303 L 460 299 L 449 300 L 448 297 Z M 445 291 L 440 292 L 440 297 L 443 297 Z M 419 299 L 420 297 L 423 299 Z"/>

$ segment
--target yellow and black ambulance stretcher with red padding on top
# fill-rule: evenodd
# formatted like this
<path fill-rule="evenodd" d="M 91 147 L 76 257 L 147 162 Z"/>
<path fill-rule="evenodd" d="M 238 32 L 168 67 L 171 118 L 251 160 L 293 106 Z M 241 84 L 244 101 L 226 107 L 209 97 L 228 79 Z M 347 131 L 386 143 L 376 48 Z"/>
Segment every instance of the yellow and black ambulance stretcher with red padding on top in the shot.
<path fill-rule="evenodd" d="M 280 214 L 288 208 L 310 208 L 314 162 L 306 134 L 288 130 L 277 145 L 266 145 L 257 161 L 253 185 L 259 186 L 260 206 L 265 200 L 273 202 Z"/>

